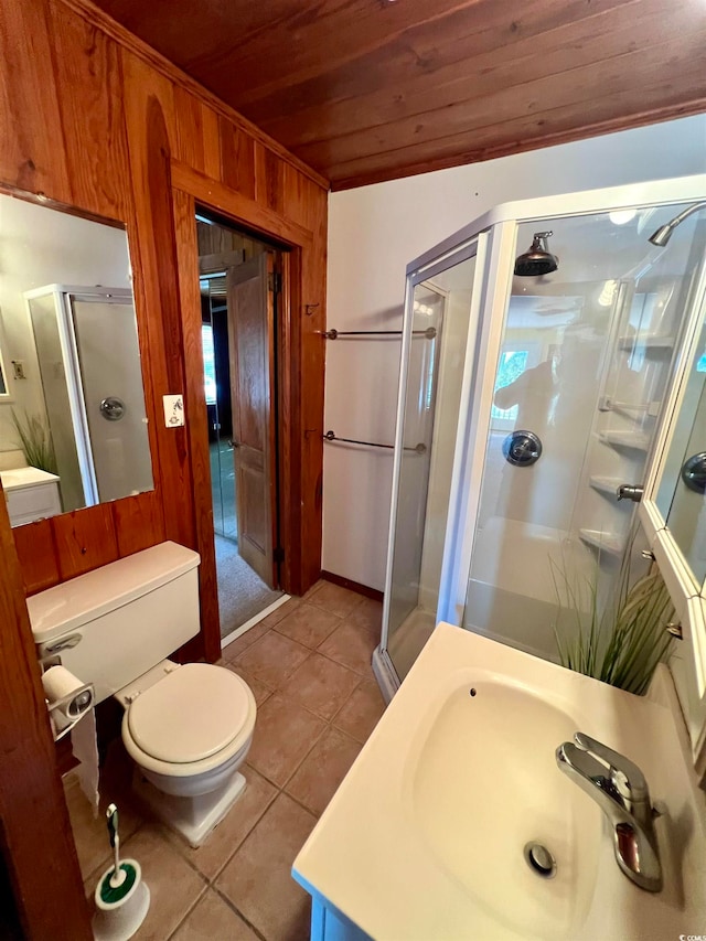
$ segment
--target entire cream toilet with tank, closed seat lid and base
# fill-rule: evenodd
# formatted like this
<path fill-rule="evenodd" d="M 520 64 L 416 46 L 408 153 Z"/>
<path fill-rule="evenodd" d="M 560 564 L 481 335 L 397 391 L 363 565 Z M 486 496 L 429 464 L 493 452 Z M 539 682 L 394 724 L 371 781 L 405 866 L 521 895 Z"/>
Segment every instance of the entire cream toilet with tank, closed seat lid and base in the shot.
<path fill-rule="evenodd" d="M 28 599 L 41 660 L 61 657 L 96 702 L 122 704 L 142 800 L 200 846 L 245 787 L 255 698 L 231 670 L 165 657 L 199 633 L 199 555 L 136 553 Z"/>

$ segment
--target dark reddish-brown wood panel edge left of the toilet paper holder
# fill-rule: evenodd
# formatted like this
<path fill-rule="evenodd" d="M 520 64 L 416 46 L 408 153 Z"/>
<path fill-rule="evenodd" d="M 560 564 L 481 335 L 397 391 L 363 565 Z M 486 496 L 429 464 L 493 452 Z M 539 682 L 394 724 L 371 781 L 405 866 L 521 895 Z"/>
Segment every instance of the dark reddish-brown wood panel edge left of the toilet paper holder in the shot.
<path fill-rule="evenodd" d="M 88 941 L 88 906 L 3 500 L 0 558 L 0 879 L 9 879 L 22 928 L 15 933 L 0 911 L 0 937 Z M 7 891 L 0 889 L 0 905 Z"/>

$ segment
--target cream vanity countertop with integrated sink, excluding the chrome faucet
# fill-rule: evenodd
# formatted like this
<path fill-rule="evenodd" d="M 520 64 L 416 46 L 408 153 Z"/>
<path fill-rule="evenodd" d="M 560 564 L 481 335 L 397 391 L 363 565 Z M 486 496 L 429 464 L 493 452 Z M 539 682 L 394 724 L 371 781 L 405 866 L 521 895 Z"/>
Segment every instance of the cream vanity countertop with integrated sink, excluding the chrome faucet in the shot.
<path fill-rule="evenodd" d="M 577 730 L 633 760 L 664 805 L 661 892 L 619 870 L 602 812 L 556 767 Z M 543 836 L 555 879 L 522 857 Z M 706 932 L 705 847 L 671 709 L 440 624 L 292 873 L 376 941 L 645 941 Z"/>

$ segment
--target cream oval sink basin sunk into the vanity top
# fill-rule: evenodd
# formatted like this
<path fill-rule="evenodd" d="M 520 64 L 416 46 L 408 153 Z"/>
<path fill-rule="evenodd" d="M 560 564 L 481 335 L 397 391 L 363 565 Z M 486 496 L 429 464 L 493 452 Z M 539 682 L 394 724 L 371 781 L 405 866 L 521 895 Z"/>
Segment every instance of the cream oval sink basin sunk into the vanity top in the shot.
<path fill-rule="evenodd" d="M 587 723 L 485 671 L 454 680 L 413 749 L 415 823 L 438 864 L 499 924 L 573 938 L 593 896 L 601 811 L 559 773 L 554 752 Z M 554 856 L 552 878 L 525 858 L 532 843 Z"/>

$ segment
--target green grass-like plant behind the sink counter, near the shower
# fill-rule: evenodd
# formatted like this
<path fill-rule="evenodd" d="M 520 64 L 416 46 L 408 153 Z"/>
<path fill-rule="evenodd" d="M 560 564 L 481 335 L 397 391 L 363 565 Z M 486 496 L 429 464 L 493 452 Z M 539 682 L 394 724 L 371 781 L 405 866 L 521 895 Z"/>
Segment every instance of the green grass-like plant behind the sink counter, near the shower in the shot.
<path fill-rule="evenodd" d="M 563 666 L 643 696 L 657 663 L 670 653 L 673 638 L 666 624 L 674 607 L 656 566 L 642 578 L 631 578 L 633 542 L 613 596 L 603 606 L 598 598 L 598 564 L 592 578 L 579 579 L 566 565 L 550 562 L 559 608 L 574 614 L 569 623 L 573 620 L 576 629 L 571 637 L 563 637 L 555 625 L 554 633 Z"/>

